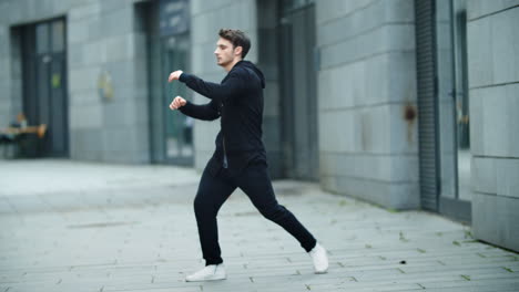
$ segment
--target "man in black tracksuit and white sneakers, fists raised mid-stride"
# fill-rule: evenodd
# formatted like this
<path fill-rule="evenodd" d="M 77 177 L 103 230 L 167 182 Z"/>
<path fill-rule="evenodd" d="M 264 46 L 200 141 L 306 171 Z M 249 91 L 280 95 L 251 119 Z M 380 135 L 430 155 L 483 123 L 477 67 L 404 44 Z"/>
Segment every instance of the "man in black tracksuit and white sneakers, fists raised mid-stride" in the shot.
<path fill-rule="evenodd" d="M 176 96 L 171 109 L 180 109 L 193 118 L 220 119 L 216 150 L 202 174 L 194 200 L 194 210 L 202 253 L 206 267 L 186 277 L 186 281 L 211 281 L 226 278 L 221 250 L 216 215 L 224 201 L 241 188 L 258 211 L 294 236 L 311 254 L 316 273 L 328 269 L 326 250 L 285 207 L 277 204 L 267 171 L 262 142 L 263 73 L 243 61 L 251 41 L 240 30 L 220 30 L 216 43 L 217 64 L 227 71 L 222 83 L 205 82 L 194 75 L 174 71 L 169 82 L 179 80 L 210 98 L 204 105 L 192 104 Z"/>

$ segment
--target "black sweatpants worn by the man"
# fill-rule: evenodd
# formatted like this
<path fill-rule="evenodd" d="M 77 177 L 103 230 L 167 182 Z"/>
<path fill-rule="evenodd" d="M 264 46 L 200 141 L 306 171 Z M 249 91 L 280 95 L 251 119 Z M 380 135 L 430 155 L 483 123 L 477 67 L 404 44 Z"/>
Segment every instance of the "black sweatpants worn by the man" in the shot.
<path fill-rule="evenodd" d="M 225 168 L 222 168 L 214 177 L 205 168 L 194 200 L 194 210 L 206 265 L 223 262 L 216 215 L 236 188 L 241 188 L 248 196 L 265 218 L 294 236 L 306 251 L 311 251 L 315 247 L 317 241 L 311 232 L 291 211 L 277 204 L 265 163 L 252 164 L 235 177 L 232 177 Z"/>

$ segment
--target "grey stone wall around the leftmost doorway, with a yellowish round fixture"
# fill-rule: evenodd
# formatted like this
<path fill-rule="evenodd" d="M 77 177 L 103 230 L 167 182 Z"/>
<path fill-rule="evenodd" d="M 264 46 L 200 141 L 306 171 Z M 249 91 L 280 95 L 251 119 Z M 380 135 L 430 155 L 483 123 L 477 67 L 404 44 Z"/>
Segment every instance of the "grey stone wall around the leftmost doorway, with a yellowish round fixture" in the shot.
<path fill-rule="evenodd" d="M 149 161 L 144 34 L 134 29 L 134 1 L 9 0 L 0 3 L 0 114 L 21 108 L 21 82 L 11 52 L 12 25 L 67 18 L 70 157 L 120 163 Z M 4 72 L 2 70 L 2 72 Z M 112 81 L 113 100 L 98 92 L 100 74 Z M 19 107 L 19 108 L 17 108 Z M 12 118 L 12 117 L 11 117 Z M 2 118 L 1 123 L 6 123 Z M 3 125 L 3 124 L 2 124 Z"/>

